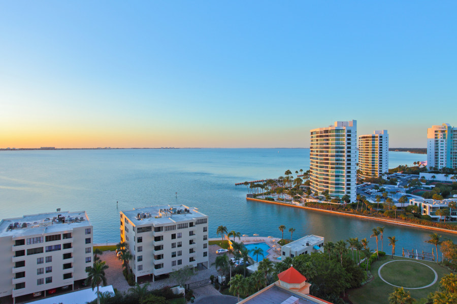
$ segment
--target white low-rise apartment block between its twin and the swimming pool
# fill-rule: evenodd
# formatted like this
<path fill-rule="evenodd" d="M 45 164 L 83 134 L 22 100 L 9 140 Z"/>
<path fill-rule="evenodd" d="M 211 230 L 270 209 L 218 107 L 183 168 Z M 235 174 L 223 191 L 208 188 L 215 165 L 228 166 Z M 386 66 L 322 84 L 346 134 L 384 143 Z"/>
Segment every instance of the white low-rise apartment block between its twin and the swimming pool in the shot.
<path fill-rule="evenodd" d="M 135 280 L 169 274 L 182 267 L 208 268 L 208 216 L 184 205 L 120 212 L 121 242 L 134 256 Z"/>

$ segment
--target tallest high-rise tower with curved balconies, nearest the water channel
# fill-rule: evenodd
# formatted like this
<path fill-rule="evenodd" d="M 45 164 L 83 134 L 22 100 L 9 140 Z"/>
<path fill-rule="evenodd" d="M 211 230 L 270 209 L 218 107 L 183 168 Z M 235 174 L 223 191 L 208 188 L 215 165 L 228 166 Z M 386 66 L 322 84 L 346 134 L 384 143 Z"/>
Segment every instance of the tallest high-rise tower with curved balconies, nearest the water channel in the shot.
<path fill-rule="evenodd" d="M 334 126 L 313 129 L 310 142 L 310 187 L 321 195 L 344 195 L 355 202 L 357 122 L 335 122 Z"/>

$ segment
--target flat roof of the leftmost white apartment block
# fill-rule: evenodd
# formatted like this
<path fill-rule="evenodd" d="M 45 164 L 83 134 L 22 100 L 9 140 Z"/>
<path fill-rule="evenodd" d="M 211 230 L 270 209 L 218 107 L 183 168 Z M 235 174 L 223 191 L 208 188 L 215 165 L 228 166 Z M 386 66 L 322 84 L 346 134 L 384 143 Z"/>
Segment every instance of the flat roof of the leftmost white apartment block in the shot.
<path fill-rule="evenodd" d="M 59 222 L 54 217 L 65 217 L 65 221 Z M 82 217 L 82 220 L 81 220 Z M 77 221 L 76 221 L 77 219 Z M 10 229 L 10 226 L 19 223 L 18 227 Z M 25 223 L 24 227 L 23 223 Z M 69 231 L 75 227 L 90 226 L 90 220 L 86 211 L 69 212 L 49 212 L 24 215 L 16 218 L 6 218 L 0 221 L 0 237 L 25 237 L 30 235 L 42 235 Z"/>

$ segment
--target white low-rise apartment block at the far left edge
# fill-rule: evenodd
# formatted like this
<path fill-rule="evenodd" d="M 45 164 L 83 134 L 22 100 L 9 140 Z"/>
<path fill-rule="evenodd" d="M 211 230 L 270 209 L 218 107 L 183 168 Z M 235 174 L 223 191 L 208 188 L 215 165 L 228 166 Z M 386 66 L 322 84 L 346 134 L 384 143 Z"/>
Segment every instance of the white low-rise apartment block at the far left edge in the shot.
<path fill-rule="evenodd" d="M 93 263 L 92 233 L 85 211 L 0 221 L 0 297 L 46 295 L 85 280 Z"/>

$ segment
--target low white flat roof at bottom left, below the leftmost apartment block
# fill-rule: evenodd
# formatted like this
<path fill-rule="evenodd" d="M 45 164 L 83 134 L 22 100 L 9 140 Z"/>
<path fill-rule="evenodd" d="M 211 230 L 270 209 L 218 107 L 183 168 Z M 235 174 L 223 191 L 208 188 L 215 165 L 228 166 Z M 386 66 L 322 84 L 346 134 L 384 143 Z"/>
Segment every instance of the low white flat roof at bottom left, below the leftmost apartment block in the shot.
<path fill-rule="evenodd" d="M 100 292 L 112 292 L 114 295 L 114 289 L 112 285 L 109 286 L 100 286 L 99 287 Z M 86 288 L 83 290 L 78 290 L 74 292 L 69 292 L 66 294 L 60 294 L 56 296 L 51 296 L 51 297 L 46 297 L 41 300 L 29 302 L 33 304 L 58 304 L 58 303 L 64 303 L 64 304 L 85 304 L 87 302 L 91 302 L 94 299 L 97 298 L 97 289 L 95 288 L 92 290 L 92 288 Z"/>

